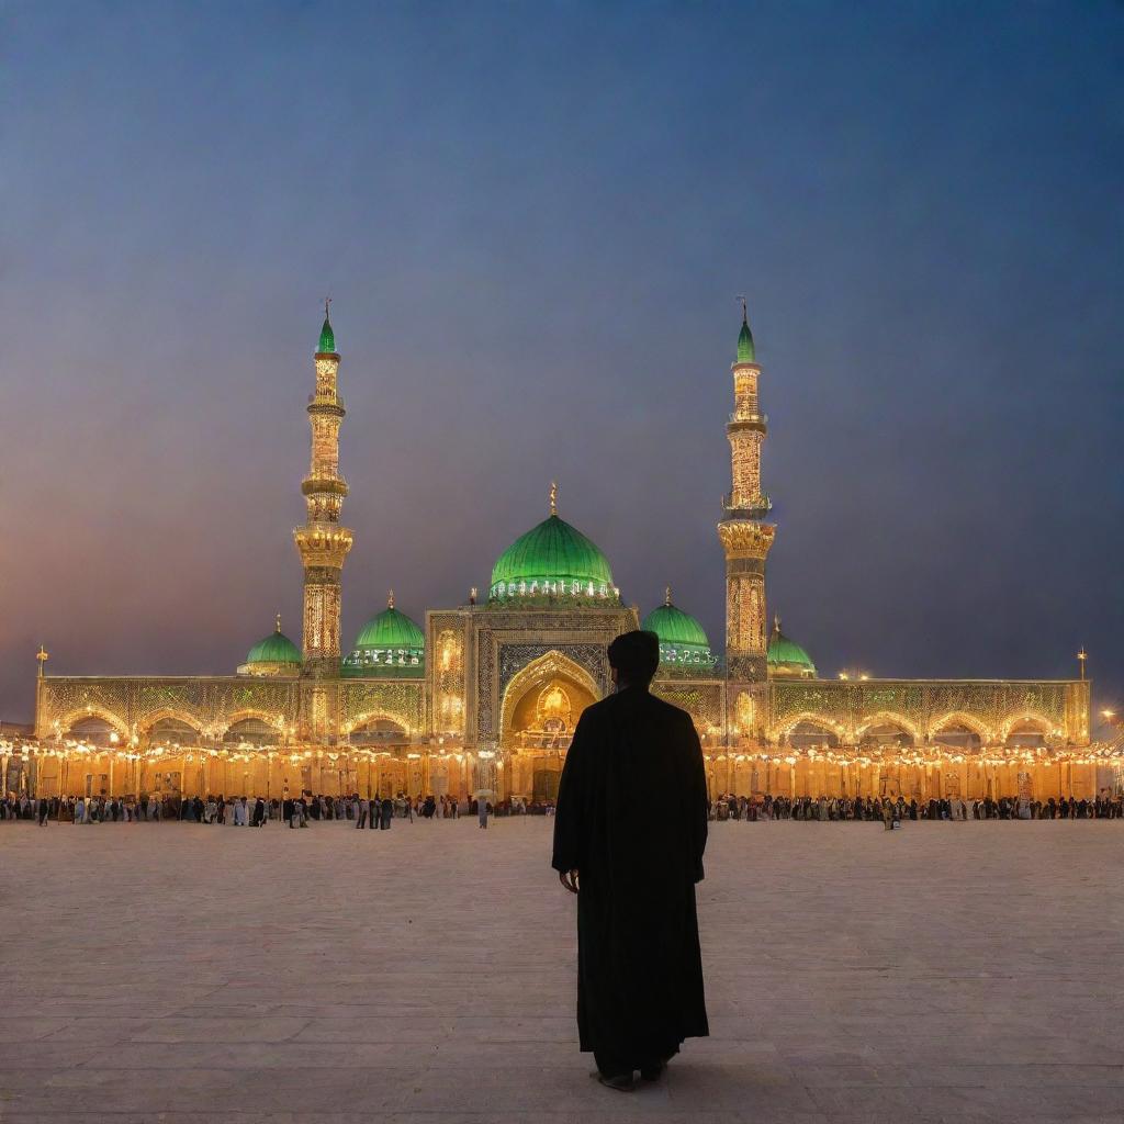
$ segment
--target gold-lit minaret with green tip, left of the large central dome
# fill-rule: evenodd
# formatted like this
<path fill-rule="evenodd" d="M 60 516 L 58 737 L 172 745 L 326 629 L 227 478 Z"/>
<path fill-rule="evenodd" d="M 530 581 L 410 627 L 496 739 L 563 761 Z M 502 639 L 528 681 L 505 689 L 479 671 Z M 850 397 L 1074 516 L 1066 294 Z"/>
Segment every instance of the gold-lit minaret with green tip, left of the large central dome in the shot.
<path fill-rule="evenodd" d="M 308 398 L 312 459 L 300 486 L 308 506 L 305 526 L 292 536 L 305 566 L 305 671 L 316 678 L 339 674 L 339 578 L 352 533 L 339 524 L 347 482 L 339 475 L 339 424 L 344 405 L 336 393 L 339 355 L 324 302 L 324 327 L 316 350 L 316 392 Z"/>

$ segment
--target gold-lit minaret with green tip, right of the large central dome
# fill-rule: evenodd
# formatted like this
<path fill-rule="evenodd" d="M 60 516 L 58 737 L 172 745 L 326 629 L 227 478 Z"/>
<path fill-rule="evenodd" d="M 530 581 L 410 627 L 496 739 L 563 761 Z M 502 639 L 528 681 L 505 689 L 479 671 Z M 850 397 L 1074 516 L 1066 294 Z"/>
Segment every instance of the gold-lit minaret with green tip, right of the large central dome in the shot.
<path fill-rule="evenodd" d="M 725 515 L 718 537 L 726 554 L 726 673 L 731 680 L 764 682 L 765 559 L 777 527 L 768 523 L 772 506 L 761 490 L 761 446 L 765 416 L 758 401 L 761 368 L 753 350 L 750 319 L 742 301 L 742 330 L 737 337 L 734 375 L 734 413 L 726 425 L 733 487 L 723 500 Z"/>

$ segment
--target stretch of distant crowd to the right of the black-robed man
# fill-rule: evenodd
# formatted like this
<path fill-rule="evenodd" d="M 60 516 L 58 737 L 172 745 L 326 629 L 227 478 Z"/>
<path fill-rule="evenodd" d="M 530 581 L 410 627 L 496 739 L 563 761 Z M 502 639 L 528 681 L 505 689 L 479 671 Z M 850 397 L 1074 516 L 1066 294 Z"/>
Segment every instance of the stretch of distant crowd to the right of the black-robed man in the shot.
<path fill-rule="evenodd" d="M 906 800 L 904 796 L 813 798 L 765 796 L 719 796 L 711 806 L 715 819 L 880 819 L 887 816 L 901 823 L 907 819 L 1121 819 L 1124 798 L 1102 792 L 1096 799 L 1001 796 L 982 800 Z"/>

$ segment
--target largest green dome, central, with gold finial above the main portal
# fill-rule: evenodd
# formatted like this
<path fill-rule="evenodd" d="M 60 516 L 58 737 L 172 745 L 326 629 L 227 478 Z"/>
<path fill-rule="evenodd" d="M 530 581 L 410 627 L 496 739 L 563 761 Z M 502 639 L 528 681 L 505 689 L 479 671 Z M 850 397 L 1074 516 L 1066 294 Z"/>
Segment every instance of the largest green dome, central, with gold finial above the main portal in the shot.
<path fill-rule="evenodd" d="M 558 597 L 620 600 L 605 555 L 575 527 L 560 519 L 551 493 L 551 515 L 520 535 L 492 566 L 492 601 Z"/>

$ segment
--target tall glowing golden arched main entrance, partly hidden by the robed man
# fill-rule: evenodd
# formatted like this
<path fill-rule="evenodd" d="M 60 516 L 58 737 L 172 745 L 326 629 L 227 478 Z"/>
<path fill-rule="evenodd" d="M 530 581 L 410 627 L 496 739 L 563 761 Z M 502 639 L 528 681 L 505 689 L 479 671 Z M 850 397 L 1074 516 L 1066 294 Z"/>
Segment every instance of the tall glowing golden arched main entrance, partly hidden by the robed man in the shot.
<path fill-rule="evenodd" d="M 562 762 L 582 710 L 600 698 L 593 677 L 562 652 L 532 660 L 508 683 L 500 710 L 497 778 L 506 797 L 547 803 L 558 796 Z"/>

